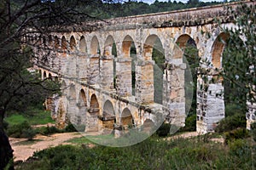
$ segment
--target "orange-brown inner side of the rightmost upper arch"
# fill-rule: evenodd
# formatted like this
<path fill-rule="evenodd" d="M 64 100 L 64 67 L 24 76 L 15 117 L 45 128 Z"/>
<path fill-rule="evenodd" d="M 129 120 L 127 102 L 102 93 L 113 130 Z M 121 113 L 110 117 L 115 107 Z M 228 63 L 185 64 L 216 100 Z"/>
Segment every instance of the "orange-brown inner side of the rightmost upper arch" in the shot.
<path fill-rule="evenodd" d="M 212 66 L 215 68 L 222 67 L 222 54 L 224 52 L 225 42 L 229 35 L 222 32 L 218 35 L 212 45 Z"/>

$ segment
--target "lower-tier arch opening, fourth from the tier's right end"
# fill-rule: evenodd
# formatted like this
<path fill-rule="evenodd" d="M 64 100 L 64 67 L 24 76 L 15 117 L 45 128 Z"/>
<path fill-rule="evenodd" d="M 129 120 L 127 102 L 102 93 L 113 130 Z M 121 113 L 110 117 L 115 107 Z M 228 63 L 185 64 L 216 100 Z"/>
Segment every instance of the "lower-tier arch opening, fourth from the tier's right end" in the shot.
<path fill-rule="evenodd" d="M 97 132 L 98 131 L 98 116 L 100 116 L 100 105 L 96 94 L 92 94 L 90 97 L 90 109 L 88 110 L 88 115 L 86 117 L 86 132 Z"/>

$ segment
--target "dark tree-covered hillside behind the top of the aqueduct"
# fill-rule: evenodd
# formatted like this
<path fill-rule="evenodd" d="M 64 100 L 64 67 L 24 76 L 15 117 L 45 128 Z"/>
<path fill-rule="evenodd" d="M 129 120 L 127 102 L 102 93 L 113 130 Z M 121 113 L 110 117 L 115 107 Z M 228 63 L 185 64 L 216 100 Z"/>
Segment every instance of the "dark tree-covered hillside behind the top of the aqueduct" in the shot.
<path fill-rule="evenodd" d="M 129 0 L 129 1 L 103 1 L 101 0 L 91 1 L 90 5 L 86 6 L 84 10 L 90 13 L 91 16 L 100 17 L 102 19 L 115 18 L 123 16 L 131 16 L 137 14 L 150 14 L 159 13 L 172 10 L 178 10 L 183 8 L 195 8 L 204 7 L 218 2 L 204 3 L 198 0 L 189 0 L 187 3 L 177 1 L 160 2 L 154 1 L 152 4 L 143 3 L 141 1 Z M 106 10 L 107 8 L 107 10 Z"/>

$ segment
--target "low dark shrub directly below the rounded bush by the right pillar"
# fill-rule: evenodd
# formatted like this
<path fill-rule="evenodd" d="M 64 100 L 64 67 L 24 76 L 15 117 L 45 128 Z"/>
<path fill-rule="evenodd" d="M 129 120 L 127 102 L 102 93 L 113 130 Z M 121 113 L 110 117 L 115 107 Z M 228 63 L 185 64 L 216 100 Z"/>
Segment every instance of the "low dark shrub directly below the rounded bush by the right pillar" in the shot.
<path fill-rule="evenodd" d="M 235 130 L 232 130 L 230 132 L 224 133 L 225 138 L 225 144 L 228 144 L 230 141 L 234 141 L 235 139 L 245 139 L 247 138 L 248 131 L 246 128 L 237 128 Z"/>

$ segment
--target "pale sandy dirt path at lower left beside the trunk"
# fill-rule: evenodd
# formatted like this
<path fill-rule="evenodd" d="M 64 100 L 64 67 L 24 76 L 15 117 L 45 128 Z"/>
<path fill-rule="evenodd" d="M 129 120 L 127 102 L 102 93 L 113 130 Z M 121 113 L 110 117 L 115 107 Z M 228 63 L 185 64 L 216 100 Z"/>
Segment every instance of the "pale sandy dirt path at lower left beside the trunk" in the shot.
<path fill-rule="evenodd" d="M 64 143 L 68 139 L 79 138 L 80 133 L 56 133 L 50 136 L 37 135 L 34 140 L 9 138 L 14 151 L 15 161 L 25 161 L 34 151 L 44 150 Z"/>

